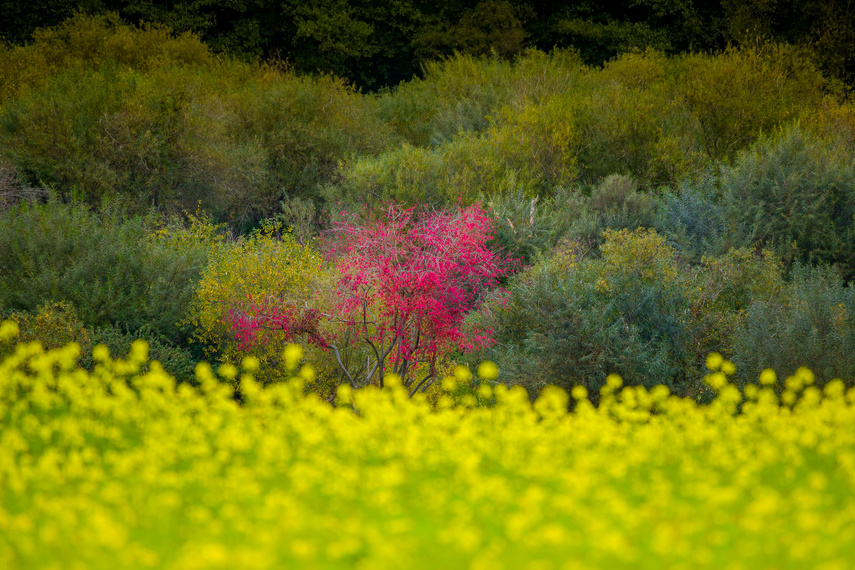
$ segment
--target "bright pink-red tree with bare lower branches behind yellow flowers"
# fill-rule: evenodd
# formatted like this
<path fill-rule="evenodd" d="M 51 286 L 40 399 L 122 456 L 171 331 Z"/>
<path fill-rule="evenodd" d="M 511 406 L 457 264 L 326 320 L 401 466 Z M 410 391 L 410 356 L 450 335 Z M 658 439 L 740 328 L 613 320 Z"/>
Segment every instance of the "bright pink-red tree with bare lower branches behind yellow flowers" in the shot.
<path fill-rule="evenodd" d="M 461 330 L 506 272 L 505 260 L 487 247 L 493 232 L 479 206 L 393 206 L 377 221 L 339 224 L 327 238 L 340 275 L 334 306 L 250 303 L 233 314 L 238 339 L 254 338 L 258 327 L 305 333 L 333 353 L 352 386 L 382 385 L 394 373 L 411 395 L 436 379 L 444 354 L 488 340 Z"/>

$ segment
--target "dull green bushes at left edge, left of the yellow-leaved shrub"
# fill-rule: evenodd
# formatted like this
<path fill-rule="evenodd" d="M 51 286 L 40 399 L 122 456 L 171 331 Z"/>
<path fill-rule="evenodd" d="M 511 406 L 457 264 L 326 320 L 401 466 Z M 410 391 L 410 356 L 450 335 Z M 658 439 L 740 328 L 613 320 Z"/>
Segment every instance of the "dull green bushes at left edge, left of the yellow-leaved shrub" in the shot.
<path fill-rule="evenodd" d="M 84 207 L 22 204 L 0 214 L 0 306 L 34 312 L 49 301 L 74 306 L 87 327 L 144 325 L 173 342 L 207 250 L 176 247 L 141 219 Z"/>

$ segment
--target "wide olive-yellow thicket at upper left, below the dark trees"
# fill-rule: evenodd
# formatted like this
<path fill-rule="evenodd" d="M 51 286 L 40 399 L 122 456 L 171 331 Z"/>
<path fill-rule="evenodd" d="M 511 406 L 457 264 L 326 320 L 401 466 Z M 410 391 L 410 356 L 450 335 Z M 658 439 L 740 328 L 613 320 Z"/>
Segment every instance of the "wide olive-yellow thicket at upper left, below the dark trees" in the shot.
<path fill-rule="evenodd" d="M 170 52 L 165 31 L 156 45 L 166 51 L 150 54 L 149 32 L 105 21 L 78 18 L 48 31 L 59 37 L 53 43 L 26 48 L 50 58 L 50 46 L 71 50 L 66 36 L 87 38 L 90 28 L 102 44 L 125 46 L 68 56 L 0 108 L 0 156 L 26 184 L 129 213 L 174 213 L 201 201 L 235 226 L 277 213 L 317 224 L 317 185 L 340 160 L 389 143 L 374 100 L 338 79 L 195 61 Z"/>

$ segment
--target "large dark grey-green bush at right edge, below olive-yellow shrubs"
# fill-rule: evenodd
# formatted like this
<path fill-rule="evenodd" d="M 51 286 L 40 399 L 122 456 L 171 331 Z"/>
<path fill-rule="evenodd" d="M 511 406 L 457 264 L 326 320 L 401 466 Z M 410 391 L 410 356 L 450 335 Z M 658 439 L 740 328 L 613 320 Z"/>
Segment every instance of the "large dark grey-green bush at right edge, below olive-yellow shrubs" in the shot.
<path fill-rule="evenodd" d="M 798 126 L 740 153 L 721 174 L 740 241 L 785 262 L 839 264 L 855 276 L 855 154 Z"/>

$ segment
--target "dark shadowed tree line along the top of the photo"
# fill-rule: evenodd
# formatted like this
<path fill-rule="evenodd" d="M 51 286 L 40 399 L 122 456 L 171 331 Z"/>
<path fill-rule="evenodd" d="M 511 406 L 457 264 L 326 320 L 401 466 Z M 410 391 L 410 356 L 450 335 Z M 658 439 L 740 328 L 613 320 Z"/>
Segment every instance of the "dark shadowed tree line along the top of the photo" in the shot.
<path fill-rule="evenodd" d="M 826 76 L 855 77 L 853 0 L 22 0 L 0 1 L 0 38 L 14 45 L 74 13 L 116 13 L 131 24 L 198 35 L 216 53 L 278 58 L 363 89 L 392 86 L 455 51 L 509 58 L 573 47 L 599 65 L 637 48 L 667 54 L 785 42 Z"/>

